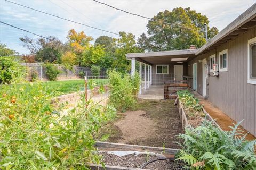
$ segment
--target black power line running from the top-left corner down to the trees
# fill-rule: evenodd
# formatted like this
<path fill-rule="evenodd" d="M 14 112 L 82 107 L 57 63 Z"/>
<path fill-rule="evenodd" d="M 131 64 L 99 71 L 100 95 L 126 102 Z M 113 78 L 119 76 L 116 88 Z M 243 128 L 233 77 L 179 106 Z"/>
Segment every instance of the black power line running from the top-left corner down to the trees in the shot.
<path fill-rule="evenodd" d="M 31 8 L 31 7 L 28 7 L 28 6 L 25 6 L 25 5 L 21 5 L 21 4 L 18 4 L 18 3 L 15 3 L 15 2 L 11 2 L 11 1 L 8 1 L 8 0 L 4 0 L 6 2 L 10 2 L 12 4 L 15 4 L 15 5 L 19 5 L 19 6 L 22 6 L 22 7 L 26 7 L 30 10 L 34 10 L 34 11 L 37 11 L 37 12 L 41 12 L 41 13 L 44 13 L 46 15 L 50 15 L 50 16 L 54 16 L 56 18 L 59 18 L 59 19 L 62 19 L 62 20 L 66 20 L 66 21 L 69 21 L 69 22 L 73 22 L 73 23 L 77 23 L 77 24 L 80 24 L 80 25 L 84 25 L 85 27 L 89 27 L 89 28 L 93 28 L 93 29 L 96 29 L 96 30 L 100 30 L 100 31 L 104 31 L 104 32 L 108 32 L 108 33 L 112 33 L 114 35 L 117 35 L 117 36 L 120 36 L 119 33 L 115 33 L 115 32 L 111 32 L 111 31 L 107 31 L 107 30 L 103 30 L 103 29 L 100 29 L 100 28 L 97 28 L 97 27 L 92 27 L 90 25 L 87 25 L 87 24 L 83 24 L 83 23 L 80 23 L 80 22 L 76 22 L 76 21 L 73 21 L 73 20 L 69 20 L 69 19 L 66 19 L 66 18 L 62 18 L 61 16 L 57 16 L 57 15 L 53 15 L 53 14 L 50 14 L 50 13 L 47 13 L 47 12 L 43 12 L 43 11 L 40 11 L 40 10 L 36 10 L 35 8 Z"/>

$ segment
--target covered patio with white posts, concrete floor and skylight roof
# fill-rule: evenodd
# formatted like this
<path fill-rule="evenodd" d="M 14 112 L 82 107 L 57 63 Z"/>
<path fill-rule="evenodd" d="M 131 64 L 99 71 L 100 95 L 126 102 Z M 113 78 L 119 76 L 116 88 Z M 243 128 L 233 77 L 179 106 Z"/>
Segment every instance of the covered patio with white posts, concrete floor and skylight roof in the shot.
<path fill-rule="evenodd" d="M 164 52 L 129 53 L 131 74 L 139 72 L 141 78 L 139 98 L 164 99 L 164 84 L 187 80 L 188 62 L 196 56 L 197 49 Z"/>

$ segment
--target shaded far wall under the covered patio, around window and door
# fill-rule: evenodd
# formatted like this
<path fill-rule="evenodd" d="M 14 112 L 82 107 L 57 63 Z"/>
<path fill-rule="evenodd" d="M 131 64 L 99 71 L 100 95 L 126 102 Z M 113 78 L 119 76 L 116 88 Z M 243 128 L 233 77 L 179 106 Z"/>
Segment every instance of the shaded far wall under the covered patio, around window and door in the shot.
<path fill-rule="evenodd" d="M 163 63 L 166 64 L 166 63 Z M 161 65 L 161 64 L 157 64 Z M 168 63 L 169 65 L 169 74 L 156 74 L 156 64 L 152 65 L 152 85 L 163 85 L 164 82 L 173 80 L 174 74 L 174 65 L 183 65 L 183 75 L 187 75 L 187 63 L 177 64 L 177 63 Z"/>

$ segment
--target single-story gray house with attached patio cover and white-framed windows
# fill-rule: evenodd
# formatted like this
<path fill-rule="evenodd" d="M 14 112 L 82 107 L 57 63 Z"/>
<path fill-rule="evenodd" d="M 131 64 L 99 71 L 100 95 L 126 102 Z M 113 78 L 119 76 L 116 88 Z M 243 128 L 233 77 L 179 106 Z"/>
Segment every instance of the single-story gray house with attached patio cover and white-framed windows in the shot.
<path fill-rule="evenodd" d="M 132 53 L 144 69 L 144 88 L 173 78 L 190 86 L 256 136 L 256 4 L 199 49 Z M 213 75 L 218 64 L 219 75 Z M 140 69 L 141 70 L 141 69 Z M 141 73 L 142 76 L 142 73 Z M 141 91 L 140 91 L 141 92 Z"/>

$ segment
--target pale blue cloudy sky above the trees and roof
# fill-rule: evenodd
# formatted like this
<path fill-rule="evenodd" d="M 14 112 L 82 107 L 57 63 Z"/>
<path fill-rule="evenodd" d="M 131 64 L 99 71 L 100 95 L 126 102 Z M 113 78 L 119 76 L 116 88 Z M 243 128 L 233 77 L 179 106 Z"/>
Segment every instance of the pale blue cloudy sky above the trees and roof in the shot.
<path fill-rule="evenodd" d="M 147 19 L 139 18 L 92 0 L 10 0 L 37 10 L 61 16 L 93 27 L 118 33 L 131 32 L 136 37 L 147 32 Z M 219 31 L 241 15 L 255 0 L 98 0 L 121 8 L 125 11 L 152 18 L 159 11 L 171 11 L 175 7 L 190 7 L 209 18 L 209 26 Z M 0 21 L 14 25 L 41 36 L 54 36 L 65 42 L 68 30 L 84 31 L 86 35 L 97 39 L 101 35 L 118 37 L 53 16 L 45 15 L 28 8 L 0 0 Z M 0 42 L 20 54 L 29 51 L 21 46 L 20 37 L 27 35 L 38 38 L 30 33 L 0 23 Z"/>

